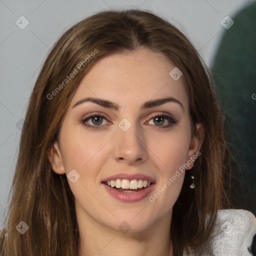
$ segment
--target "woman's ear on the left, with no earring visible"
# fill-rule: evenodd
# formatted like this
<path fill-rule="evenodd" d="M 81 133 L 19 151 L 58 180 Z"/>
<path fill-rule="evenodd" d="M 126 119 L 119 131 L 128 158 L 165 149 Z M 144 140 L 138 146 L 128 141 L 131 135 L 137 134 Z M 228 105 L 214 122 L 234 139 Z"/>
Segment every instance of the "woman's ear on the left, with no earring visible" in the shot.
<path fill-rule="evenodd" d="M 48 159 L 54 172 L 57 174 L 65 173 L 65 168 L 57 141 L 55 141 L 51 148 L 48 150 Z"/>

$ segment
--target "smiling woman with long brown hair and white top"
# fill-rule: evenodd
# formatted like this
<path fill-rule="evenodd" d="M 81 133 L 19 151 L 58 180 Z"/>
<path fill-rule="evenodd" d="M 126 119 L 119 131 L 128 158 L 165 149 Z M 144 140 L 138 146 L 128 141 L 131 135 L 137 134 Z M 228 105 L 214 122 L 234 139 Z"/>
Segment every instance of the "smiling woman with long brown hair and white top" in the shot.
<path fill-rule="evenodd" d="M 1 255 L 250 255 L 255 217 L 221 210 L 228 150 L 210 77 L 148 11 L 66 31 L 30 97 Z"/>

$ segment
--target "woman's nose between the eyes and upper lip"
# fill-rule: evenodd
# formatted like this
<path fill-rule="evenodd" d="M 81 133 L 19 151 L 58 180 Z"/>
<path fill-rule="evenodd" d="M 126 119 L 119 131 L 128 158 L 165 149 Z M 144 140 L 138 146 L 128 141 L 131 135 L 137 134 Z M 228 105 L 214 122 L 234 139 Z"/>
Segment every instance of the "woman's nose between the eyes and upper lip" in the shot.
<path fill-rule="evenodd" d="M 128 130 L 117 128 L 114 137 L 114 159 L 127 164 L 138 164 L 147 160 L 147 147 L 142 131 L 139 127 L 131 124 Z"/>

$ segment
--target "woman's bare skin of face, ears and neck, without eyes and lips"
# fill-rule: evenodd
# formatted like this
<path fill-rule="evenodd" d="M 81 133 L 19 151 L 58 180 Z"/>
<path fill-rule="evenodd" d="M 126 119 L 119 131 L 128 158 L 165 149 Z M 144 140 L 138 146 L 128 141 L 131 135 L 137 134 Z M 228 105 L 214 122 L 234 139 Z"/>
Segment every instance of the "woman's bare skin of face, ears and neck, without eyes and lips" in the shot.
<path fill-rule="evenodd" d="M 106 192 L 101 181 L 120 172 L 142 173 L 156 180 L 150 194 L 153 195 L 200 149 L 203 127 L 196 124 L 197 132 L 191 136 L 188 96 L 182 76 L 175 81 L 169 75 L 174 67 L 160 53 L 139 48 L 104 57 L 81 80 L 62 119 L 58 141 L 48 152 L 56 173 L 68 174 L 75 169 L 80 174 L 74 183 L 68 179 L 75 197 L 79 256 L 172 255 L 169 243 L 172 207 L 185 171 L 154 202 L 148 196 L 138 202 L 119 201 Z M 120 109 L 93 102 L 73 107 L 89 96 L 115 102 Z M 166 102 L 139 110 L 145 101 L 166 96 L 180 101 L 183 109 L 176 102 Z M 97 126 L 95 129 L 80 122 L 95 112 L 107 120 L 102 119 L 100 125 L 87 120 Z M 159 128 L 169 121 L 164 119 L 159 125 L 153 115 L 164 113 L 171 115 L 176 123 Z M 127 131 L 118 127 L 123 118 L 131 123 Z M 123 221 L 130 226 L 127 233 L 118 228 Z"/>

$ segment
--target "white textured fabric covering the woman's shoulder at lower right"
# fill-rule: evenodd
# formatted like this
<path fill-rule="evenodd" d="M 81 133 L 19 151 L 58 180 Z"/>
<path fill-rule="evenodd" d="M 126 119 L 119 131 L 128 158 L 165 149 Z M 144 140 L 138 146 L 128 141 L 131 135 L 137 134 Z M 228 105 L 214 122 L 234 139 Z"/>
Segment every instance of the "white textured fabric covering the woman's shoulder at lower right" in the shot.
<path fill-rule="evenodd" d="M 256 255 L 252 241 L 256 234 L 256 218 L 240 209 L 218 210 L 213 233 L 214 255 Z M 252 251 L 251 251 L 252 250 Z"/>

